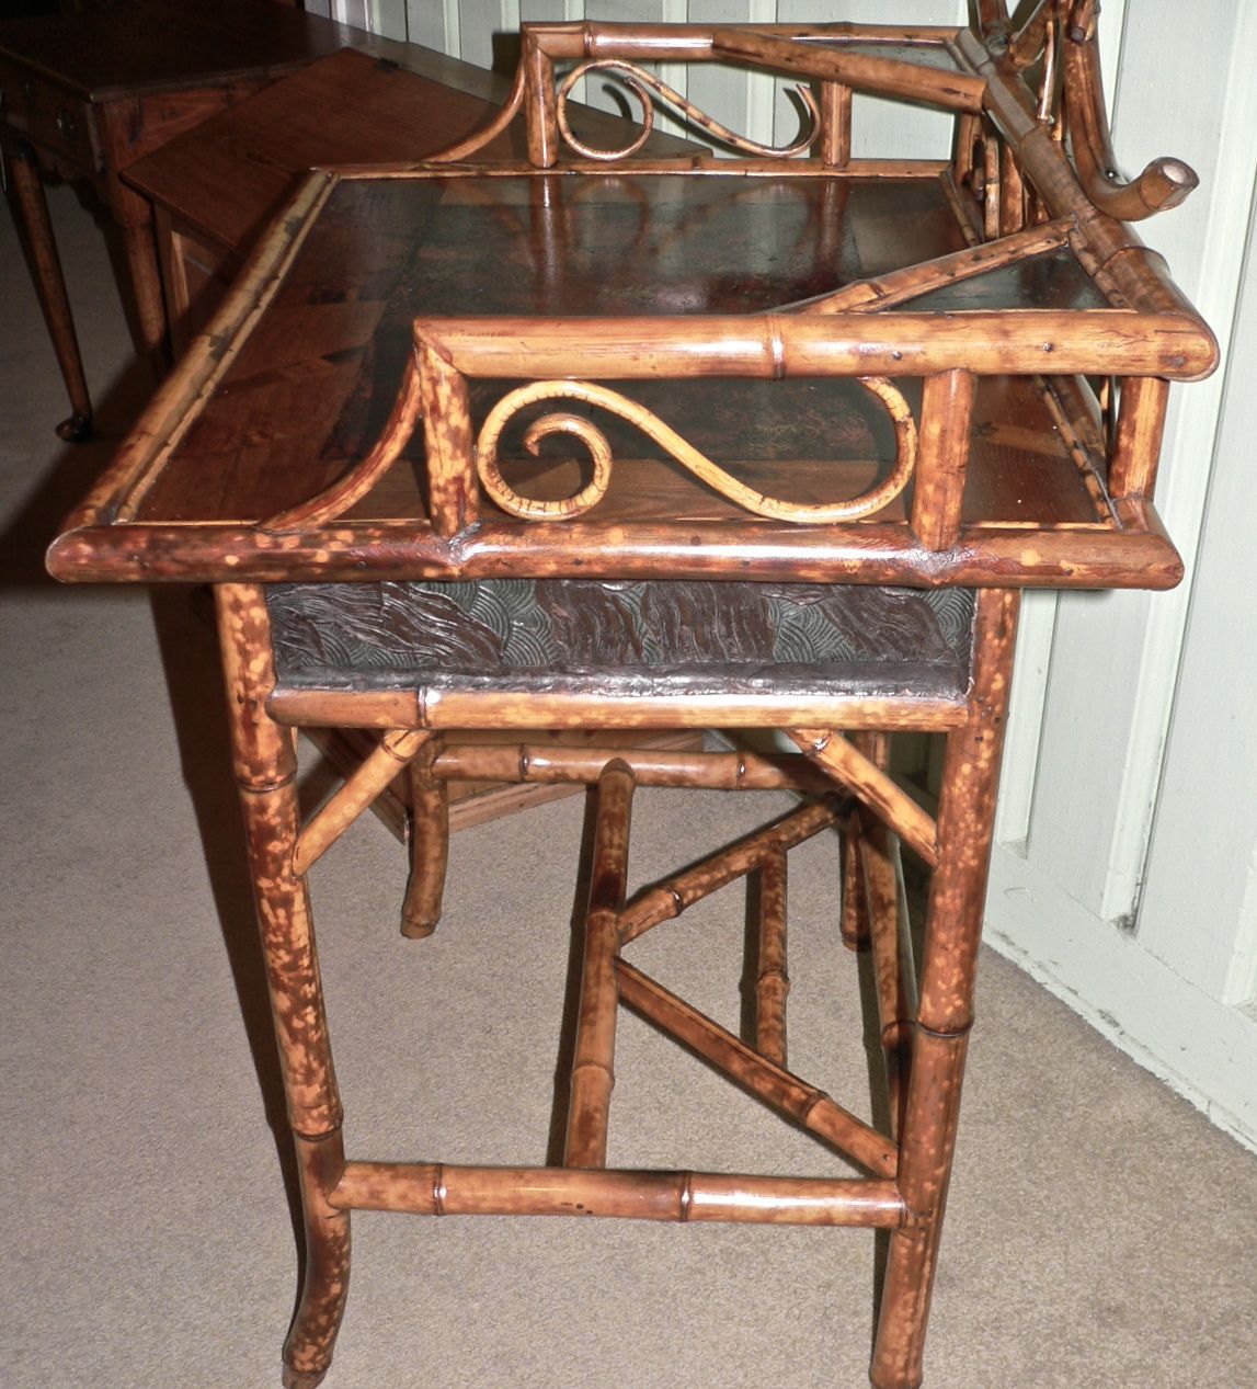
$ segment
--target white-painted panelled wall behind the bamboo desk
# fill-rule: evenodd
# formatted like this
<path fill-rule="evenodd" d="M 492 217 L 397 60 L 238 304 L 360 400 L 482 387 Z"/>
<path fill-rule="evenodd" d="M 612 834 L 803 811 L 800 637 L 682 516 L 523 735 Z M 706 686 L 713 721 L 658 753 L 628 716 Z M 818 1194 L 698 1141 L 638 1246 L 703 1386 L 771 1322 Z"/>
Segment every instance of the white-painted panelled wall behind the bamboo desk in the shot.
<path fill-rule="evenodd" d="M 521 19 L 963 24 L 965 0 L 307 0 L 389 38 L 503 65 Z M 1201 176 L 1144 224 L 1224 347 L 1172 393 L 1158 488 L 1188 579 L 1171 594 L 1026 594 L 988 939 L 1257 1147 L 1257 4 L 1106 0 L 1104 83 L 1128 171 Z M 497 46 L 494 44 L 494 35 Z M 789 143 L 789 83 L 661 76 L 729 128 Z M 611 106 L 590 83 L 582 96 Z M 661 126 L 669 128 L 664 121 Z M 675 129 L 675 126 L 671 126 Z M 856 99 L 857 156 L 949 150 L 950 119 Z"/>

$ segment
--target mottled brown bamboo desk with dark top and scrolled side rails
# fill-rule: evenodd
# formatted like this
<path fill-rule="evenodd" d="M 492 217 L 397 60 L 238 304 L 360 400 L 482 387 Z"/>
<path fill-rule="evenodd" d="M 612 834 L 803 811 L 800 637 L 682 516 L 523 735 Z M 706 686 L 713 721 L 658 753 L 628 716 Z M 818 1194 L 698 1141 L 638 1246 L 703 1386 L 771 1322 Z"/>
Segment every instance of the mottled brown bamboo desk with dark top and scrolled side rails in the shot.
<path fill-rule="evenodd" d="M 1178 581 L 1151 501 L 1165 397 L 1217 357 L 1126 225 L 1190 171 L 1107 172 L 1094 4 L 1046 0 L 1017 32 L 978 8 L 974 31 L 525 26 L 476 140 L 304 182 L 53 544 L 63 579 L 215 585 L 306 1215 L 288 1385 L 326 1372 L 354 1208 L 885 1228 L 871 1379 L 921 1382 L 1018 592 Z M 679 161 L 568 131 L 582 75 L 647 111 L 674 100 L 639 67 L 661 60 L 800 75 L 814 129 L 765 150 L 679 103 L 740 156 Z M 954 157 L 853 160 L 853 90 L 954 113 Z M 528 161 L 468 163 L 521 111 Z M 311 725 L 378 742 L 303 825 L 293 729 Z M 803 756 L 529 743 L 565 726 L 774 728 Z M 518 745 L 444 736 L 476 728 Z M 936 815 L 886 772 L 906 729 L 946 738 Z M 415 938 L 440 914 L 449 779 L 597 786 L 554 1165 L 346 1160 L 306 871 L 403 770 Z M 639 785 L 803 800 L 628 897 Z M 832 825 L 835 925 L 875 963 L 888 1132 L 789 1070 L 786 858 Z M 900 843 L 932 871 L 919 961 Z M 760 982 L 736 1036 L 621 951 L 749 874 Z M 619 1003 L 847 1170 L 607 1168 Z"/>

